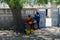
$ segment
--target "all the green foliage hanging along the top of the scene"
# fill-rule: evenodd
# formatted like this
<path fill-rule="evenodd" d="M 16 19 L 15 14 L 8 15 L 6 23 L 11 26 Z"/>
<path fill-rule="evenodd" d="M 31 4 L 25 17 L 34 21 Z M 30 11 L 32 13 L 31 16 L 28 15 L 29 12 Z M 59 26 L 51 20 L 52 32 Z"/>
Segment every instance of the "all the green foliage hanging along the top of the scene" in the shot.
<path fill-rule="evenodd" d="M 10 8 L 22 8 L 23 4 L 31 4 L 32 0 L 3 0 L 4 2 L 6 2 Z M 55 2 L 53 2 L 54 0 L 34 0 L 34 4 L 35 5 L 40 5 L 40 4 L 48 4 L 48 1 L 50 1 L 51 4 L 55 3 L 56 5 L 60 4 L 60 0 L 55 0 Z"/>

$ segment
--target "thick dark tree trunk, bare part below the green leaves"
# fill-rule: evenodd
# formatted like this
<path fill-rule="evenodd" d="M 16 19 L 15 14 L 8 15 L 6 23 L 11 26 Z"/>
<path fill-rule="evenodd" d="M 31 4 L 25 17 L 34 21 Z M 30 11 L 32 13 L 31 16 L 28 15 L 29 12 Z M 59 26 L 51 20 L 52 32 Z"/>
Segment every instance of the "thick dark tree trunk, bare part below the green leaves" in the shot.
<path fill-rule="evenodd" d="M 16 25 L 16 31 L 23 32 L 21 9 L 11 9 L 13 14 L 13 24 Z M 22 30 L 22 31 L 21 31 Z"/>

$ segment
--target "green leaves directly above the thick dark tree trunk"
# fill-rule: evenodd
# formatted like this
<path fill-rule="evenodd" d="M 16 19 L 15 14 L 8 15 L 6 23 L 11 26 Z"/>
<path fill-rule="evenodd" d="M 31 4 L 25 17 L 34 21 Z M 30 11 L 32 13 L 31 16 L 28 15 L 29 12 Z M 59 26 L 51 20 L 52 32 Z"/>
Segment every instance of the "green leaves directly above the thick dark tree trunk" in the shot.
<path fill-rule="evenodd" d="M 10 8 L 22 8 L 26 0 L 3 0 Z"/>

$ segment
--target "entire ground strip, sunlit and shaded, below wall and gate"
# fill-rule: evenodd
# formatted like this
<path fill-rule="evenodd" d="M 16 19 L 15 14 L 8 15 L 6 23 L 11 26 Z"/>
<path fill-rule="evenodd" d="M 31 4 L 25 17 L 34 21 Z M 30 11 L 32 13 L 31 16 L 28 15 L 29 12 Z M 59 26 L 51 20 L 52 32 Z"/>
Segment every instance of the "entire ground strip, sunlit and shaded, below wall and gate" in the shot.
<path fill-rule="evenodd" d="M 60 40 L 60 28 L 42 28 L 34 31 L 34 34 L 23 35 L 16 34 L 14 31 L 10 30 L 0 30 L 0 40 Z"/>

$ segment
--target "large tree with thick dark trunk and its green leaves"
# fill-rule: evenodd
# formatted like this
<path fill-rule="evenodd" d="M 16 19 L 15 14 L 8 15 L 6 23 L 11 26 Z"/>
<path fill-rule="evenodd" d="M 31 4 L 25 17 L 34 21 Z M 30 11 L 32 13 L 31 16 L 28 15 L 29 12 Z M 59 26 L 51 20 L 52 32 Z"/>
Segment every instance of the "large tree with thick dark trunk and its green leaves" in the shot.
<path fill-rule="evenodd" d="M 3 0 L 3 2 L 7 3 L 12 11 L 13 21 L 14 25 L 17 26 L 17 31 L 23 32 L 21 9 L 26 0 Z"/>

